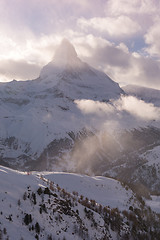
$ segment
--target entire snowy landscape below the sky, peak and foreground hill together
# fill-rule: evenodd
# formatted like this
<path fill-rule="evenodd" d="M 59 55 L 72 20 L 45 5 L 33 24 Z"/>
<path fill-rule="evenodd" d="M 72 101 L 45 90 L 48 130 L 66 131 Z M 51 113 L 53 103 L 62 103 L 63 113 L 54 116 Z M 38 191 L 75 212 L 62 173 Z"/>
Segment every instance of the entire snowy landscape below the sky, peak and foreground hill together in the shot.
<path fill-rule="evenodd" d="M 0 83 L 0 164 L 19 170 L 0 166 L 0 239 L 159 239 L 159 93 L 67 40 L 39 78 Z"/>

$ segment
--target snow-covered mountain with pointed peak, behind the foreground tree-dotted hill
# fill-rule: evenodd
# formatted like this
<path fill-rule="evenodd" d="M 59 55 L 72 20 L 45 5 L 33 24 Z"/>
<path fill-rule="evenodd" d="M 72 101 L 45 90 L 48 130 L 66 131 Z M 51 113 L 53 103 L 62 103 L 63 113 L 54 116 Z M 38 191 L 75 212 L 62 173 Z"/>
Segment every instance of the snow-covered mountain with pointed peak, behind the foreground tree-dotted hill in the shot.
<path fill-rule="evenodd" d="M 154 108 L 160 106 L 158 90 L 136 86 L 122 90 L 107 75 L 82 62 L 64 40 L 39 78 L 0 84 L 0 163 L 19 170 L 109 176 L 144 195 L 160 193 L 159 118 L 139 122 L 120 109 L 121 94 L 152 103 L 151 115 L 159 111 Z M 83 114 L 77 100 L 90 101 L 90 115 Z M 98 115 L 92 114 L 93 106 Z M 105 127 L 100 132 L 97 121 Z M 123 128 L 117 131 L 117 125 Z M 115 131 L 110 131 L 112 126 Z"/>

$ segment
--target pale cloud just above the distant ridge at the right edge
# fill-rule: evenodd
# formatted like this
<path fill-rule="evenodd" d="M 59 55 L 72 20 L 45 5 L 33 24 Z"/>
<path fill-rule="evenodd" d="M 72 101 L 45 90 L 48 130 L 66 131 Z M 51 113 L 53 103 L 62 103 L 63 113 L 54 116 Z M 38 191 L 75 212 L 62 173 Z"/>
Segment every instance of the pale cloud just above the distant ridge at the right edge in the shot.
<path fill-rule="evenodd" d="M 109 72 L 111 78 L 125 84 L 136 84 L 146 87 L 160 89 L 159 74 L 160 62 L 149 57 L 142 57 L 139 54 L 126 55 L 123 66 L 106 65 L 105 72 Z M 124 63 L 125 63 L 124 62 Z"/>

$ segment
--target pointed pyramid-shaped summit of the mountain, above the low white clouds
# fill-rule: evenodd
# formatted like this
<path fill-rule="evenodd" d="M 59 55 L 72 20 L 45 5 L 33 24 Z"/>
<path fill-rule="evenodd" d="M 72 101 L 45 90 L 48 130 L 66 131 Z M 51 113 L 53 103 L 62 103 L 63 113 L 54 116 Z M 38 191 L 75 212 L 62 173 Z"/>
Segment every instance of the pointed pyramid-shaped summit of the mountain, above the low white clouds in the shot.
<path fill-rule="evenodd" d="M 73 100 L 107 101 L 123 93 L 105 73 L 81 61 L 73 45 L 66 39 L 57 48 L 53 60 L 43 67 L 40 79 L 52 83 L 64 96 Z"/>

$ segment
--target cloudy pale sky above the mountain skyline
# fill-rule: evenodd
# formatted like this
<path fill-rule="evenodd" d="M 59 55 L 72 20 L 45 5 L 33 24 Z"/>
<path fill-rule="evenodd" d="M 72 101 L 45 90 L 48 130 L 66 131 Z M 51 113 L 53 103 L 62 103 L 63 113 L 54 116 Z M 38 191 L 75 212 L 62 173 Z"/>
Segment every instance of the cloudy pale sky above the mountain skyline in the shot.
<path fill-rule="evenodd" d="M 0 0 L 0 81 L 37 78 L 63 38 L 120 85 L 160 89 L 159 0 Z"/>

